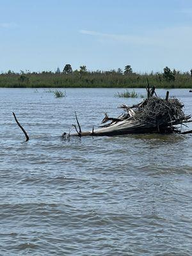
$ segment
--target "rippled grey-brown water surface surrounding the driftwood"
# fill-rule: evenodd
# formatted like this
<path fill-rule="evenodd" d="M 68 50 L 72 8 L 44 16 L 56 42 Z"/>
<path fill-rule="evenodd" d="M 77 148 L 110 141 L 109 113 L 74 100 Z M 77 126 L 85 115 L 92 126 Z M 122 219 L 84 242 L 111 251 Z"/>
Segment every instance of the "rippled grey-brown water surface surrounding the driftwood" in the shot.
<path fill-rule="evenodd" d="M 86 131 L 141 100 L 116 91 L 0 89 L 0 255 L 192 255 L 190 134 L 60 140 L 74 111 Z"/>

